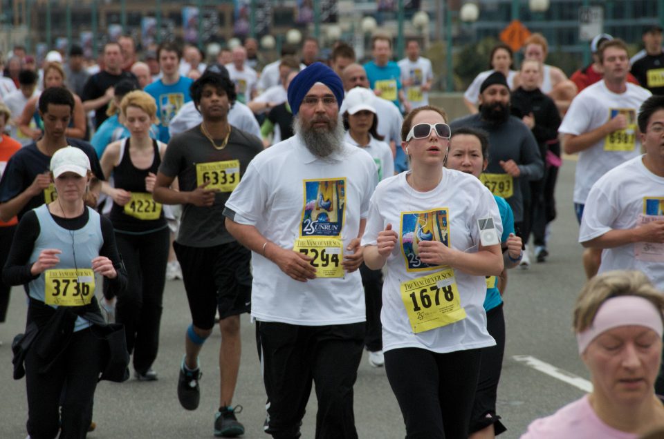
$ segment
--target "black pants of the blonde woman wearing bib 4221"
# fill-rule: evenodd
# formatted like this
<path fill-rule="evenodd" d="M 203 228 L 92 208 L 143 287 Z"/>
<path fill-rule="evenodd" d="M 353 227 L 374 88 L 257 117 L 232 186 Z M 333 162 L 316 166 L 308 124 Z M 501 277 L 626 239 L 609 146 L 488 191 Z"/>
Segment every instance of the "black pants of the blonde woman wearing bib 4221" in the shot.
<path fill-rule="evenodd" d="M 169 229 L 145 235 L 116 232 L 118 251 L 127 267 L 127 290 L 118 295 L 116 321 L 124 324 L 127 351 L 133 351 L 133 368 L 150 369 L 157 358 Z"/>

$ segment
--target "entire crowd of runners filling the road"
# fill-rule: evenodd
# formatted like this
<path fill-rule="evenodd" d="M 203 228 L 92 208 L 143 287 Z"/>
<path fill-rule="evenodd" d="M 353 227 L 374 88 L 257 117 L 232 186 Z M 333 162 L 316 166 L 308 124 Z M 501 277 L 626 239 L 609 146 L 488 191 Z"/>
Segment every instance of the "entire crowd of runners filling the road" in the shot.
<path fill-rule="evenodd" d="M 216 324 L 222 335 L 214 436 L 245 432 L 234 393 L 250 313 L 273 438 L 301 436 L 313 385 L 315 437 L 357 438 L 364 351 L 406 438 L 495 437 L 509 427 L 496 411 L 507 269 L 546 263 L 557 208 L 574 209 L 585 248 L 574 328 L 594 389 L 524 437 L 664 428 L 662 31 L 645 28 L 631 60 L 598 35 L 571 78 L 544 64 L 540 34 L 518 70 L 499 43 L 454 121 L 430 103 L 417 40 L 396 62 L 375 35 L 365 64 L 341 41 L 320 59 L 313 38 L 270 64 L 255 39 L 209 64 L 175 43 L 139 61 L 127 36 L 93 66 L 73 46 L 37 69 L 15 47 L 0 81 L 0 323 L 23 285 L 12 350 L 28 437 L 95 429 L 98 379 L 159 379 L 178 279 L 183 409 L 199 407 L 214 369 L 199 353 Z M 563 152 L 578 154 L 573 206 L 555 203 Z"/>

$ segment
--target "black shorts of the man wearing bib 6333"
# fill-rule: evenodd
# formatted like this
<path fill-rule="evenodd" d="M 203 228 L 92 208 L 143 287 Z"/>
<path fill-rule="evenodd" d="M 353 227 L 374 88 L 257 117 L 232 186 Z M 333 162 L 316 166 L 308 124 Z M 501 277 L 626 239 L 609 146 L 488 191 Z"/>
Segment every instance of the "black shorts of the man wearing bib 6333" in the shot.
<path fill-rule="evenodd" d="M 196 328 L 212 329 L 219 318 L 251 311 L 251 251 L 229 242 L 212 247 L 173 243 Z"/>

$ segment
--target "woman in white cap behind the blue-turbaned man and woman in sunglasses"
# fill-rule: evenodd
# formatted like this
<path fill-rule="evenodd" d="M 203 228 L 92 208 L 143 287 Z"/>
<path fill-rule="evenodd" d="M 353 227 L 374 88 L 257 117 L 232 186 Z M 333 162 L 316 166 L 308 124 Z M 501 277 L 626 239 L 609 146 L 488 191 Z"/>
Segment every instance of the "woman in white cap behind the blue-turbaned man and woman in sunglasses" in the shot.
<path fill-rule="evenodd" d="M 368 88 L 356 87 L 346 93 L 345 111 L 342 113 L 346 135 L 344 139 L 351 145 L 367 151 L 378 169 L 378 181 L 394 175 L 394 156 L 389 145 L 382 142 L 384 136 L 378 134 L 378 114 L 374 107 L 374 95 Z M 380 309 L 382 308 L 382 273 L 370 270 L 365 264 L 360 266 L 362 286 L 365 288 L 365 306 L 367 308 L 367 334 L 365 346 L 369 351 L 369 364 L 382 367 L 385 359 L 382 355 L 382 335 Z"/>

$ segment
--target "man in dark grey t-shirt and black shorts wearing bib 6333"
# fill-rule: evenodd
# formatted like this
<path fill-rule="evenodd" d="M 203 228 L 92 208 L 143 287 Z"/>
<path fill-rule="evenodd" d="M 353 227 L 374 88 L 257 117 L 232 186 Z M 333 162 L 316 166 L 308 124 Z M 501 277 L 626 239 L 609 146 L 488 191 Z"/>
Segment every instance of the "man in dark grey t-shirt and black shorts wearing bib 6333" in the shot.
<path fill-rule="evenodd" d="M 251 305 L 251 252 L 226 231 L 222 213 L 263 144 L 228 124 L 228 110 L 236 96 L 230 79 L 207 72 L 192 84 L 191 94 L 203 121 L 170 139 L 154 188 L 157 202 L 183 204 L 174 249 L 182 267 L 192 324 L 187 329 L 178 399 L 187 410 L 199 406 L 198 357 L 212 333 L 218 309 L 221 392 L 214 436 L 234 437 L 244 433 L 231 403 L 240 364 L 239 315 L 250 311 Z M 176 177 L 179 191 L 170 188 Z"/>

